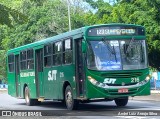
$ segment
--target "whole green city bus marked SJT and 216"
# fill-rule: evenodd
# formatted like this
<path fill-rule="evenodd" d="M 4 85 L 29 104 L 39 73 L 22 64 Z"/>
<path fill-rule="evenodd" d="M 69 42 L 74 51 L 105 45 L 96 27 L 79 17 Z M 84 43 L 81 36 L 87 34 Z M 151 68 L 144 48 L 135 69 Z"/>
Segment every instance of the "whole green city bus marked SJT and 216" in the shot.
<path fill-rule="evenodd" d="M 7 52 L 8 93 L 36 105 L 79 103 L 150 95 L 144 27 L 101 24 L 82 27 Z"/>

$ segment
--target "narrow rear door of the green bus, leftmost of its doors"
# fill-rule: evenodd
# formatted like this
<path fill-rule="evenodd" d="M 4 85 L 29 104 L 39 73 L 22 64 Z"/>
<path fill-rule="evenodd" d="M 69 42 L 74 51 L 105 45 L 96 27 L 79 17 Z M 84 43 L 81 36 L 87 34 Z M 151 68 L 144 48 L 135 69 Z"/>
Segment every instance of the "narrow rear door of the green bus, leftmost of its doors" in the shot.
<path fill-rule="evenodd" d="M 21 97 L 20 71 L 19 71 L 19 54 L 15 55 L 15 79 L 16 79 L 16 96 Z"/>

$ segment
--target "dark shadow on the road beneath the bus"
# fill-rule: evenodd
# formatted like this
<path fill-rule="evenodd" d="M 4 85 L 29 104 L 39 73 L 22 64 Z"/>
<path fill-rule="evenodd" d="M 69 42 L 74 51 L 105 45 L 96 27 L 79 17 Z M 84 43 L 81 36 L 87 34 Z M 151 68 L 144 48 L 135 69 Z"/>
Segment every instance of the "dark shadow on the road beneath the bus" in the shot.
<path fill-rule="evenodd" d="M 26 105 L 24 103 L 17 103 L 17 105 Z M 129 104 L 128 104 L 129 105 Z M 62 102 L 54 102 L 54 101 L 44 101 L 41 102 L 40 105 L 35 105 L 36 107 L 40 107 L 41 109 L 49 108 L 50 110 L 67 110 L 65 104 Z M 32 106 L 32 107 L 35 107 Z M 80 103 L 78 105 L 78 111 L 113 111 L 113 110 L 134 110 L 138 109 L 139 106 L 125 106 L 125 107 L 117 107 L 114 102 L 92 102 L 92 103 Z M 141 108 L 146 108 L 145 106 L 141 106 Z"/>

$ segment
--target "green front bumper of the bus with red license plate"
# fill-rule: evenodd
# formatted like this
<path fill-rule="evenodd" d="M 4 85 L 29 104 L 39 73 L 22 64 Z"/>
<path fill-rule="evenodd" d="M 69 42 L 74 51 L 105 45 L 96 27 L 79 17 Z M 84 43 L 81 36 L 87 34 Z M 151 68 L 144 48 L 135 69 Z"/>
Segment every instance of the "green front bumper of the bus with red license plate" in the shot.
<path fill-rule="evenodd" d="M 150 95 L 150 80 L 143 80 L 135 85 L 127 86 L 108 86 L 99 82 L 91 83 L 88 90 L 88 98 L 104 97 L 114 99 L 118 97 Z"/>

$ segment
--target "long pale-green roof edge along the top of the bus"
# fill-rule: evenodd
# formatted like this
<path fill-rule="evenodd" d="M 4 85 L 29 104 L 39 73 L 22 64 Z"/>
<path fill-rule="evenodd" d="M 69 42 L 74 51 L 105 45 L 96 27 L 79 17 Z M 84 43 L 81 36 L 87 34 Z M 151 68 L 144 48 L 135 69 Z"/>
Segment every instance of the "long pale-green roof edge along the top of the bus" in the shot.
<path fill-rule="evenodd" d="M 39 45 L 43 45 L 43 44 L 46 44 L 46 43 L 49 43 L 49 42 L 53 42 L 53 41 L 56 41 L 56 40 L 59 40 L 59 39 L 64 39 L 64 38 L 67 38 L 67 37 L 69 38 L 70 36 L 74 36 L 76 34 L 84 35 L 85 31 L 88 28 L 98 27 L 98 26 L 135 26 L 135 27 L 143 27 L 141 25 L 124 24 L 124 23 L 97 24 L 97 25 L 92 25 L 92 26 L 85 26 L 85 27 L 82 27 L 82 28 L 79 28 L 79 29 L 76 29 L 76 30 L 61 33 L 61 34 L 53 36 L 53 37 L 49 37 L 49 38 L 46 38 L 46 39 L 43 39 L 43 40 L 40 40 L 40 41 L 36 41 L 36 42 L 30 43 L 30 44 L 27 44 L 27 45 L 23 45 L 23 46 L 11 49 L 7 53 L 11 54 L 13 52 L 17 52 L 17 51 L 20 51 L 20 50 L 30 49 L 30 48 L 33 48 L 33 47 L 36 47 L 36 46 L 39 46 Z"/>

